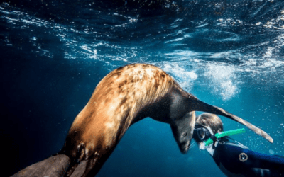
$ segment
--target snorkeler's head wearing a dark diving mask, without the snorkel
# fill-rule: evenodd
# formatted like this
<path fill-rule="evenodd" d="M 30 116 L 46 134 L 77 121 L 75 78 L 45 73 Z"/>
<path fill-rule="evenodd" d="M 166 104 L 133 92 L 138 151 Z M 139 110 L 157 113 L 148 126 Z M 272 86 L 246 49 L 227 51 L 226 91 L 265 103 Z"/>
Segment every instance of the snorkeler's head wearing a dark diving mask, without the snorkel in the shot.
<path fill-rule="evenodd" d="M 205 149 L 204 141 L 218 132 L 223 132 L 221 119 L 217 115 L 203 113 L 199 115 L 195 121 L 193 139 L 195 139 L 200 149 Z"/>

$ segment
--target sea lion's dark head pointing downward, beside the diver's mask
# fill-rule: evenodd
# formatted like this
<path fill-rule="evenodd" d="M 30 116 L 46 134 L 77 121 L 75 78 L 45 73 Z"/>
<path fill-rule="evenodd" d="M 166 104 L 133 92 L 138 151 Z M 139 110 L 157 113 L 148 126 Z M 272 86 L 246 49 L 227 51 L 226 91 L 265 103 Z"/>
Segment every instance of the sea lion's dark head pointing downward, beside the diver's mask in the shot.
<path fill-rule="evenodd" d="M 182 118 L 175 119 L 170 124 L 173 131 L 175 141 L 178 143 L 180 152 L 187 153 L 190 149 L 190 141 L 192 139 L 193 130 L 195 129 L 195 111 L 186 113 Z"/>

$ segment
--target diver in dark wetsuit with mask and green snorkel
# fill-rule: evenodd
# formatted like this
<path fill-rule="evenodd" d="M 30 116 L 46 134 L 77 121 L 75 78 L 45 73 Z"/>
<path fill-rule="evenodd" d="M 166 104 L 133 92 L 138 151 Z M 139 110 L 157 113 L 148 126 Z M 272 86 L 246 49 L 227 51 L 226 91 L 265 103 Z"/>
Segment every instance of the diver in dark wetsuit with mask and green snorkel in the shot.
<path fill-rule="evenodd" d="M 284 177 L 283 156 L 253 152 L 226 136 L 234 134 L 236 132 L 231 134 L 223 132 L 223 123 L 217 115 L 203 113 L 195 122 L 193 139 L 200 149 L 206 149 L 209 152 L 226 176 Z"/>

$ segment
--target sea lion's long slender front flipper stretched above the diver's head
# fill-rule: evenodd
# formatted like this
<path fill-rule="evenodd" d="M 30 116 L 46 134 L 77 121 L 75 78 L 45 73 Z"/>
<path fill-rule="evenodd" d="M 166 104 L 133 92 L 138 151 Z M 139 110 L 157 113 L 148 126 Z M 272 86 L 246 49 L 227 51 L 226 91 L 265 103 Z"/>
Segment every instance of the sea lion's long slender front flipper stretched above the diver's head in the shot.
<path fill-rule="evenodd" d="M 253 132 L 256 132 L 256 134 L 261 135 L 261 137 L 264 137 L 265 139 L 267 139 L 268 142 L 273 143 L 273 139 L 271 136 L 269 136 L 266 132 L 264 132 L 260 128 L 252 125 L 250 122 L 247 122 L 246 120 L 239 118 L 238 116 L 233 115 L 222 108 L 204 103 L 198 100 L 197 98 L 191 98 L 190 101 L 191 101 L 191 105 L 194 105 L 196 111 L 204 111 L 207 113 L 213 113 L 217 115 L 222 115 L 226 118 L 230 118 L 231 120 L 234 120 L 236 122 L 241 123 L 242 125 L 245 125 L 249 129 L 253 130 Z"/>

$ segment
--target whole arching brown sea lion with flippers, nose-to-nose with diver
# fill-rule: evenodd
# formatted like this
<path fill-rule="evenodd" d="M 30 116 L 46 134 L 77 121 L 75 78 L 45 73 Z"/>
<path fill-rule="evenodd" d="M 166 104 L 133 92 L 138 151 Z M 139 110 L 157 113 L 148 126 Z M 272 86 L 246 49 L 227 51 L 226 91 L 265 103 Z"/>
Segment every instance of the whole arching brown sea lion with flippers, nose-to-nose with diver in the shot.
<path fill-rule="evenodd" d="M 58 154 L 14 176 L 95 176 L 129 126 L 147 117 L 170 124 L 180 151 L 186 153 L 195 127 L 194 111 L 223 115 L 273 142 L 246 120 L 187 93 L 162 69 L 129 64 L 114 69 L 99 82 Z"/>

